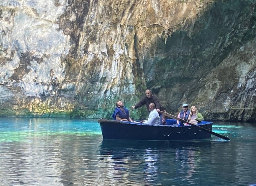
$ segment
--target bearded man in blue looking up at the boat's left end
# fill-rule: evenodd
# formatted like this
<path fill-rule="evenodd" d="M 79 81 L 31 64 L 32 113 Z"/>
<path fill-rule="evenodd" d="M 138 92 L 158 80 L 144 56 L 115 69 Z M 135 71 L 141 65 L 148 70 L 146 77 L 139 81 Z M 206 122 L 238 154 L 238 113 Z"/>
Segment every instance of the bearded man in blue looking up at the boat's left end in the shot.
<path fill-rule="evenodd" d="M 128 109 L 125 108 L 125 105 L 122 101 L 116 102 L 116 108 L 112 116 L 114 120 L 133 122 L 132 119 L 129 117 Z"/>

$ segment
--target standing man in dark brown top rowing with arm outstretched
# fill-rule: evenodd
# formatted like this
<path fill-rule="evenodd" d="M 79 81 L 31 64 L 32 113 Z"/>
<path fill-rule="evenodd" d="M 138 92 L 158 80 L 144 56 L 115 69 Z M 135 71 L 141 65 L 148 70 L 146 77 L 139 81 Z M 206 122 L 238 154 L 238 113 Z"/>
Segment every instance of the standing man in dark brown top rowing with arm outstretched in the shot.
<path fill-rule="evenodd" d="M 137 103 L 134 106 L 131 106 L 131 108 L 137 109 L 139 107 L 142 107 L 143 105 L 146 105 L 146 107 L 149 111 L 149 104 L 154 103 L 154 105 L 156 107 L 156 111 L 160 112 L 160 103 L 158 101 L 158 97 L 156 95 L 153 95 L 152 91 L 150 89 L 147 89 L 145 93 L 146 93 L 146 96 L 139 103 Z"/>

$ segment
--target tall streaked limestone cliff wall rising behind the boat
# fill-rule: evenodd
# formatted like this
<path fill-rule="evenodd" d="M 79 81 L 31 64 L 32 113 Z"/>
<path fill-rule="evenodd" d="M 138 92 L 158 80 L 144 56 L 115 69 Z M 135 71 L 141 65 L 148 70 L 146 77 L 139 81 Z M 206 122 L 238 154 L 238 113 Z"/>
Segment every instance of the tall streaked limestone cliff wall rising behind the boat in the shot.
<path fill-rule="evenodd" d="M 165 110 L 256 119 L 253 0 L 1 0 L 0 116 L 111 118 L 146 88 Z"/>

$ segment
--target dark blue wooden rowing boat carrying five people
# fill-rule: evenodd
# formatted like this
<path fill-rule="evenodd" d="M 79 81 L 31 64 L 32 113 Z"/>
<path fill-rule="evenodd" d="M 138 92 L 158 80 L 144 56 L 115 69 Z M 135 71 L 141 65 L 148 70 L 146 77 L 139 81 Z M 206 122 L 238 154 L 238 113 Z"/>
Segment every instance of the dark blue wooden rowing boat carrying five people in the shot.
<path fill-rule="evenodd" d="M 211 138 L 211 134 L 195 126 L 171 126 L 176 120 L 167 120 L 167 125 L 147 125 L 128 121 L 98 120 L 103 139 L 126 140 L 191 140 Z M 212 122 L 199 124 L 212 131 Z"/>

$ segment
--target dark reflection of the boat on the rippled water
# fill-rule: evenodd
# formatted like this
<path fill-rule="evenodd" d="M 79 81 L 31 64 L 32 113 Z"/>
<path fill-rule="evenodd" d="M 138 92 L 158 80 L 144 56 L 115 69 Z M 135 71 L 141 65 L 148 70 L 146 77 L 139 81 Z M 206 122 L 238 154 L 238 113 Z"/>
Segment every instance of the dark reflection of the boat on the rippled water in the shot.
<path fill-rule="evenodd" d="M 154 185 L 164 174 L 192 177 L 200 167 L 201 151 L 211 148 L 211 143 L 205 140 L 103 140 L 100 159 L 108 162 L 108 171 L 116 178 L 126 177 L 134 183 L 143 180 L 143 184 Z M 163 184 L 168 181 L 163 180 Z"/>

